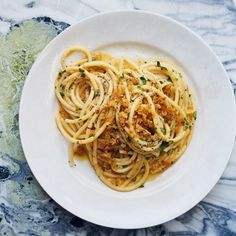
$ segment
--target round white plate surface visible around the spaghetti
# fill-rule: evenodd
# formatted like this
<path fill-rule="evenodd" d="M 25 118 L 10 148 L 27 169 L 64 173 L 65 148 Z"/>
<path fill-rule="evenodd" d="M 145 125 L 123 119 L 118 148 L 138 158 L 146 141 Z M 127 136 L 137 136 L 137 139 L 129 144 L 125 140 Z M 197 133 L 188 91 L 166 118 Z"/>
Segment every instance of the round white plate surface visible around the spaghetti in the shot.
<path fill-rule="evenodd" d="M 130 57 L 164 55 L 182 67 L 197 102 L 194 134 L 180 160 L 144 188 L 116 192 L 87 161 L 69 167 L 68 145 L 54 121 L 54 80 L 62 52 L 72 45 Z M 233 147 L 235 103 L 223 66 L 192 31 L 157 14 L 110 12 L 68 28 L 41 53 L 24 86 L 20 134 L 32 172 L 65 209 L 104 226 L 148 227 L 192 208 L 220 178 Z"/>

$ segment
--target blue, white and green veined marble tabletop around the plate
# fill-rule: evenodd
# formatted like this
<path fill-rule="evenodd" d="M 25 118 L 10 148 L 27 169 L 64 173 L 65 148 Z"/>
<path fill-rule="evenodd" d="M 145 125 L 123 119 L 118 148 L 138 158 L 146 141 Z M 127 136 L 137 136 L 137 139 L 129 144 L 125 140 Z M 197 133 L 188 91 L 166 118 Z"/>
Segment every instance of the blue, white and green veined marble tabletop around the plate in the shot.
<path fill-rule="evenodd" d="M 75 217 L 50 199 L 32 175 L 18 130 L 21 90 L 31 65 L 48 42 L 68 26 L 118 9 L 158 12 L 191 28 L 219 56 L 236 91 L 233 0 L 2 0 L 0 235 L 236 235 L 236 145 L 223 176 L 203 201 L 170 222 L 146 229 L 105 228 Z"/>

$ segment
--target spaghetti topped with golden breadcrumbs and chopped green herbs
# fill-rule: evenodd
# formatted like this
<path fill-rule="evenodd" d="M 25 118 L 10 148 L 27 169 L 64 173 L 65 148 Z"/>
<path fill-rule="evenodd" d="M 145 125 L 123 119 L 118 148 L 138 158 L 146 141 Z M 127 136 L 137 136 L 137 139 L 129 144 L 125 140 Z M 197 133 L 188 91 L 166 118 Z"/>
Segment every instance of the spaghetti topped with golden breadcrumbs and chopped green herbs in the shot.
<path fill-rule="evenodd" d="M 82 58 L 68 62 L 77 53 Z M 55 93 L 70 165 L 87 155 L 102 182 L 117 191 L 143 187 L 174 164 L 197 115 L 183 75 L 156 58 L 133 61 L 71 48 L 61 58 Z"/>

